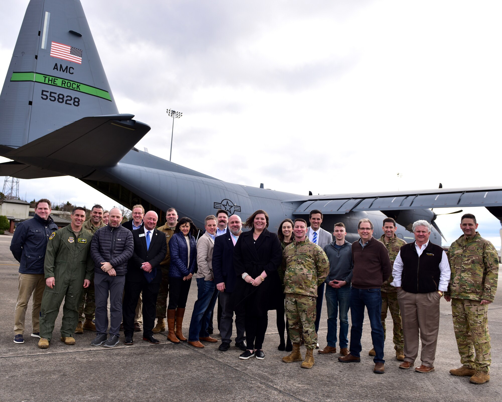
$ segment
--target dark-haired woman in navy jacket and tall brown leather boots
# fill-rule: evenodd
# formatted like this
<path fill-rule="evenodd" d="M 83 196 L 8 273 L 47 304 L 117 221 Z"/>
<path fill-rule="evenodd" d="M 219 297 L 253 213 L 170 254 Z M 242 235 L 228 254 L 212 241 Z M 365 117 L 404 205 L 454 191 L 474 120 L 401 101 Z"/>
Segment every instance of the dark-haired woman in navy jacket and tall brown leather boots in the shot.
<path fill-rule="evenodd" d="M 197 247 L 194 234 L 197 228 L 190 218 L 178 221 L 174 234 L 169 240 L 171 264 L 169 267 L 169 304 L 167 306 L 167 339 L 173 343 L 186 342 L 181 327 L 192 275 L 197 266 Z M 176 320 L 176 333 L 174 321 Z"/>

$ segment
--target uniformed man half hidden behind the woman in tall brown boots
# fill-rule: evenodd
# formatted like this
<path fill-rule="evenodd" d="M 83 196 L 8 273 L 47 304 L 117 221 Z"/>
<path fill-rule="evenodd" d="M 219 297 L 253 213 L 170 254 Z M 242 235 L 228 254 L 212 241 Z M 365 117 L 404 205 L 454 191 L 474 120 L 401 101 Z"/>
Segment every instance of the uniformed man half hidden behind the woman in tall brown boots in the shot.
<path fill-rule="evenodd" d="M 167 296 L 169 294 L 169 264 L 171 262 L 171 257 L 169 255 L 169 240 L 173 237 L 174 228 L 178 223 L 178 213 L 174 208 L 170 208 L 166 212 L 166 224 L 164 226 L 159 226 L 161 232 L 166 235 L 167 242 L 167 254 L 164 261 L 160 263 L 162 269 L 162 279 L 159 288 L 159 294 L 157 295 L 157 325 L 152 330 L 154 334 L 166 331 L 166 318 L 167 311 Z"/>

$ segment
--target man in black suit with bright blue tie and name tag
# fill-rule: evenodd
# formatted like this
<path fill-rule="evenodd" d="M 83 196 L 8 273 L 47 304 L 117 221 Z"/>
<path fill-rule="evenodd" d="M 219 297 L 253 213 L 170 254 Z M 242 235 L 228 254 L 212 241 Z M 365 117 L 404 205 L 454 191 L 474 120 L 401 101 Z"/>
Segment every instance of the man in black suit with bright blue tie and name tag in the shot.
<path fill-rule="evenodd" d="M 124 324 L 124 344 L 133 344 L 134 316 L 138 298 L 143 291 L 143 340 L 153 344 L 159 341 L 153 337 L 157 293 L 159 292 L 162 270 L 160 263 L 167 253 L 166 236 L 155 229 L 157 214 L 148 211 L 144 226 L 133 231 L 134 253 L 129 260 L 124 286 L 122 315 Z"/>

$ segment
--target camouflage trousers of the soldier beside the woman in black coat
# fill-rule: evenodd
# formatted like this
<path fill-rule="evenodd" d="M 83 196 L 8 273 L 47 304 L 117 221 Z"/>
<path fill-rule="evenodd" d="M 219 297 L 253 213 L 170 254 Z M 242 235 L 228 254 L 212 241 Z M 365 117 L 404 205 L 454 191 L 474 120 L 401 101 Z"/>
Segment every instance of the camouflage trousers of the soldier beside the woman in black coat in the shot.
<path fill-rule="evenodd" d="M 316 297 L 286 293 L 286 319 L 288 320 L 291 342 L 299 343 L 301 340 L 300 332 L 302 332 L 305 347 L 315 349 L 317 345 L 315 318 Z"/>

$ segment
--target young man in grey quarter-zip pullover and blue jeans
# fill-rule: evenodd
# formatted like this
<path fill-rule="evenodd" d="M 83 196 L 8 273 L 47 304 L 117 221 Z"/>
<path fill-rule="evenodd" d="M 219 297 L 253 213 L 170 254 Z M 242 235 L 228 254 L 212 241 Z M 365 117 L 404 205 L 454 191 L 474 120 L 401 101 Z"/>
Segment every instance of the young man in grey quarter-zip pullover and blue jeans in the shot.
<path fill-rule="evenodd" d="M 352 247 L 345 240 L 345 225 L 335 224 L 335 241 L 324 246 L 329 260 L 329 275 L 326 278 L 326 306 L 328 307 L 328 345 L 318 351 L 321 354 L 336 353 L 336 316 L 340 315 L 340 355 L 348 355 L 348 309 L 350 279 L 352 278 Z"/>

